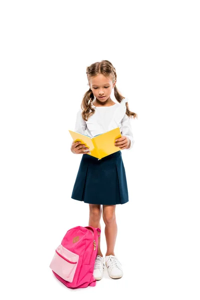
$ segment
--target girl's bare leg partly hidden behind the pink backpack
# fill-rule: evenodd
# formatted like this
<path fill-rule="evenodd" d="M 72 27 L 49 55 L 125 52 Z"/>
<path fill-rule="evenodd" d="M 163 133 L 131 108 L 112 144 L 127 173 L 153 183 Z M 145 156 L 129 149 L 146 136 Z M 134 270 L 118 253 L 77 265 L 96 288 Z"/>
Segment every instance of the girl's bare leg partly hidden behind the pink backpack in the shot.
<path fill-rule="evenodd" d="M 94 228 L 100 227 L 100 218 L 102 214 L 102 207 L 101 204 L 89 204 L 89 226 L 92 226 Z M 103 256 L 101 250 L 100 250 L 100 236 L 98 236 L 98 251 L 97 255 Z"/>

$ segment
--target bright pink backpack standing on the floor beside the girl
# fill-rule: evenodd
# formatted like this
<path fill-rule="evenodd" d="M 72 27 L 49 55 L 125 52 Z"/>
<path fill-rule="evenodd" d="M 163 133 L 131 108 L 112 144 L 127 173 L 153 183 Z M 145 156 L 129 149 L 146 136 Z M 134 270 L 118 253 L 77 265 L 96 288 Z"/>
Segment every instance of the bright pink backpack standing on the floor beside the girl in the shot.
<path fill-rule="evenodd" d="M 95 286 L 93 276 L 100 228 L 76 226 L 64 235 L 49 267 L 67 287 Z M 99 232 L 99 234 L 98 234 Z"/>

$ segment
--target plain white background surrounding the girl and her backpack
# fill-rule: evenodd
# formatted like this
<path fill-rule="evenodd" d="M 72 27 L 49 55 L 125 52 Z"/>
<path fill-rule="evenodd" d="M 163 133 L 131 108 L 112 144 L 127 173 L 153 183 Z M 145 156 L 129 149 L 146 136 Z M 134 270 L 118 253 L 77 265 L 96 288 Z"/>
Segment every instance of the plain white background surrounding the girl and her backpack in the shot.
<path fill-rule="evenodd" d="M 0 2 L 2 299 L 199 300 L 197 4 Z M 81 155 L 68 129 L 88 89 L 86 66 L 102 59 L 138 114 L 134 146 L 122 150 L 129 202 L 116 206 L 124 275 L 105 269 L 95 287 L 71 290 L 49 263 L 69 228 L 88 225 L 88 204 L 70 198 Z M 104 255 L 102 219 L 101 230 Z"/>

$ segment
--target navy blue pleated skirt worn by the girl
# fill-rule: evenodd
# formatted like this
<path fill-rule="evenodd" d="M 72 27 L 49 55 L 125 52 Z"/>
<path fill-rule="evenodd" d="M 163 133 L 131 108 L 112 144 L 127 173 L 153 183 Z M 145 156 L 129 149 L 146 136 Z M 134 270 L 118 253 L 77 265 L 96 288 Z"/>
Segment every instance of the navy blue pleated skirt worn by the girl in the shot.
<path fill-rule="evenodd" d="M 82 154 L 71 198 L 90 204 L 128 202 L 128 189 L 121 150 L 98 160 Z"/>

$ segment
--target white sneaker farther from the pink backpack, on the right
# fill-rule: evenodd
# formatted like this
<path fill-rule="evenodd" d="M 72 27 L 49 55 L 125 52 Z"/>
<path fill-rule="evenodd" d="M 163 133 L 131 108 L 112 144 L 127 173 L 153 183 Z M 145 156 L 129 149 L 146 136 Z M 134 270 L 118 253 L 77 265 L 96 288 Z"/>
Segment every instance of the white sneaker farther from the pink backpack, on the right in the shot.
<path fill-rule="evenodd" d="M 105 256 L 105 265 L 107 267 L 108 274 L 111 278 L 121 278 L 123 276 L 123 271 L 121 263 L 118 261 L 117 257 L 114 255 Z"/>

